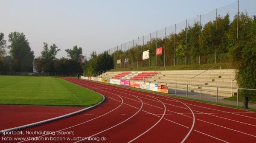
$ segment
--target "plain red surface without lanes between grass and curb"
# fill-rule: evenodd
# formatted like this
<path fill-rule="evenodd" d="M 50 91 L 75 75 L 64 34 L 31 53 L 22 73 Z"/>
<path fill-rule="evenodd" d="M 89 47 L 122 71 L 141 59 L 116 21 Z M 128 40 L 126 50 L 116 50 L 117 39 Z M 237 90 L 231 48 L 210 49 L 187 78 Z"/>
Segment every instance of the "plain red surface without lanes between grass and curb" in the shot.
<path fill-rule="evenodd" d="M 84 107 L 0 105 L 0 130 L 55 118 Z M 33 115 L 33 118 L 29 118 Z"/>

